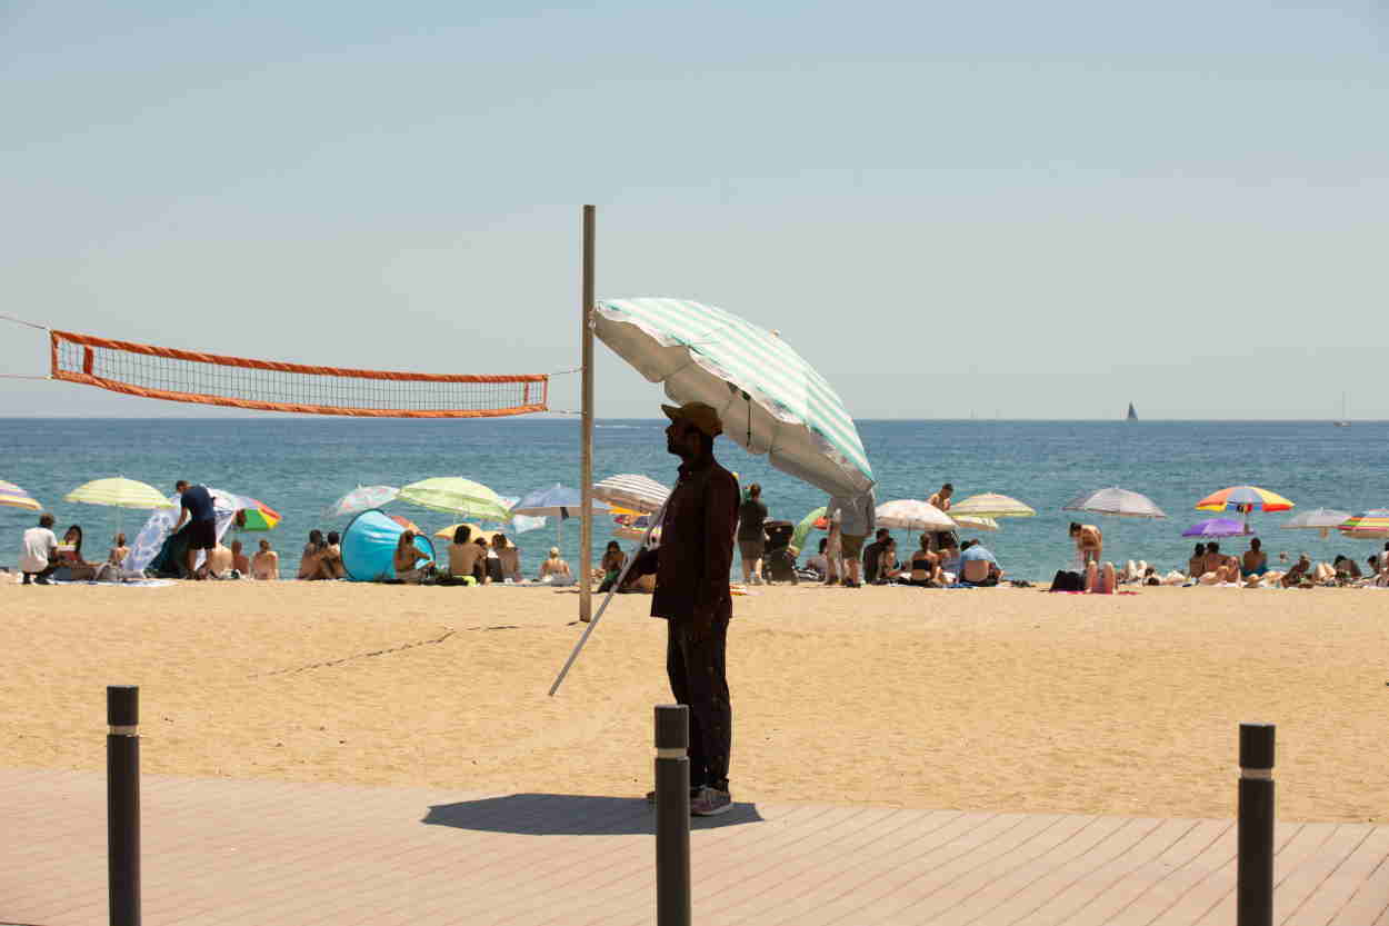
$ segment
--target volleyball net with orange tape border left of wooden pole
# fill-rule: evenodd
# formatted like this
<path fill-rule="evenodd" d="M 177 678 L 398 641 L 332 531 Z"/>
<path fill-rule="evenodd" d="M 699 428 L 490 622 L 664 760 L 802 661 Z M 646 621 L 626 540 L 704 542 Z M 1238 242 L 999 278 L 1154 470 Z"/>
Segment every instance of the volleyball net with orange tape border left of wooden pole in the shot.
<path fill-rule="evenodd" d="M 378 419 L 483 419 L 547 410 L 550 377 L 311 367 L 49 331 L 51 375 L 168 402 Z"/>

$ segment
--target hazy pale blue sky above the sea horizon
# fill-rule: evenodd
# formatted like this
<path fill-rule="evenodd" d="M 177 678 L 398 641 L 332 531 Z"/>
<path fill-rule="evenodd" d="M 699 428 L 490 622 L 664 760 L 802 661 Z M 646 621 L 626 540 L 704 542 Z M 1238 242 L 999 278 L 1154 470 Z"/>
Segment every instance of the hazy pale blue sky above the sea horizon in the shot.
<path fill-rule="evenodd" d="M 51 327 L 568 368 L 597 203 L 600 296 L 779 328 L 858 417 L 1389 419 L 1379 0 L 0 10 L 0 311 Z M 36 413 L 207 414 L 0 380 Z"/>

